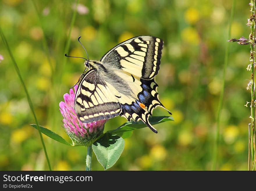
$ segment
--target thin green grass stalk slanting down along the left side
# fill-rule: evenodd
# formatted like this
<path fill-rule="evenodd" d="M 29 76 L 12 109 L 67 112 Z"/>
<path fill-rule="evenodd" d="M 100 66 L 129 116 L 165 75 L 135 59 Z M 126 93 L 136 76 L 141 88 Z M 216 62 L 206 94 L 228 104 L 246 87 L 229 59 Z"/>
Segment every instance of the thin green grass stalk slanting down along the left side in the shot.
<path fill-rule="evenodd" d="M 6 40 L 6 38 L 5 38 L 4 34 L 3 34 L 3 31 L 1 29 L 1 27 L 0 27 L 0 35 L 1 35 L 1 38 L 3 40 L 3 43 L 5 44 L 8 52 L 9 52 L 9 55 L 10 55 L 12 61 L 13 61 L 13 65 L 15 67 L 17 75 L 19 76 L 19 80 L 20 80 L 20 82 L 21 82 L 21 84 L 22 84 L 22 86 L 23 86 L 23 88 L 25 90 L 25 93 L 26 93 L 26 96 L 27 96 L 27 99 L 28 99 L 28 103 L 29 103 L 29 107 L 30 107 L 30 109 L 31 109 L 31 111 L 33 113 L 34 118 L 35 118 L 35 123 L 37 125 L 37 129 L 38 129 L 38 133 L 39 133 L 39 136 L 40 136 L 40 140 L 41 140 L 42 145 L 43 145 L 43 149 L 44 149 L 44 152 L 45 152 L 45 157 L 46 157 L 46 160 L 47 160 L 47 163 L 48 163 L 48 167 L 49 167 L 49 170 L 51 170 L 51 165 L 50 165 L 50 161 L 49 161 L 49 158 L 48 158 L 48 155 L 47 155 L 45 143 L 44 143 L 44 140 L 43 140 L 43 137 L 42 137 L 42 133 L 41 133 L 39 125 L 38 125 L 38 121 L 37 121 L 37 118 L 36 118 L 36 115 L 35 115 L 35 110 L 33 108 L 33 104 L 32 104 L 31 98 L 29 96 L 29 92 L 28 92 L 28 90 L 26 88 L 26 85 L 25 85 L 25 83 L 23 81 L 23 78 L 22 78 L 22 76 L 20 74 L 19 67 L 18 67 L 18 65 L 17 65 L 17 63 L 16 63 L 16 61 L 15 61 L 15 59 L 13 57 L 13 54 L 12 54 L 12 52 L 10 50 L 10 47 L 9 47 L 8 42 L 7 42 L 7 40 Z"/>

